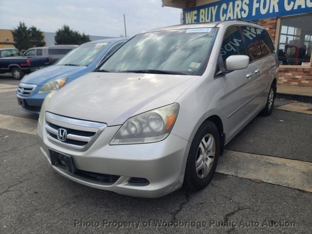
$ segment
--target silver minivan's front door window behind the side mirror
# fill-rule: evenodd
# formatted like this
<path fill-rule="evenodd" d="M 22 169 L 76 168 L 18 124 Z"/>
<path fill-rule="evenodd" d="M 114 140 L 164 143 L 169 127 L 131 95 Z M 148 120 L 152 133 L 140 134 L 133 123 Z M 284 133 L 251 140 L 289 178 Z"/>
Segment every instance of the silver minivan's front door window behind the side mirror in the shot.
<path fill-rule="evenodd" d="M 237 27 L 227 29 L 221 47 L 223 63 L 231 55 L 246 55 L 243 41 Z"/>

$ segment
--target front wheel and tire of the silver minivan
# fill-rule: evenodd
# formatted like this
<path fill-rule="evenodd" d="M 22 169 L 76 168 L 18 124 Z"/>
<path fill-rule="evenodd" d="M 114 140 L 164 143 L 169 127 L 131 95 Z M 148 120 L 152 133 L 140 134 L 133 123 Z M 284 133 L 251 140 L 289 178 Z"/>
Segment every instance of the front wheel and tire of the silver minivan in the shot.
<path fill-rule="evenodd" d="M 187 189 L 198 191 L 209 184 L 218 163 L 219 149 L 218 129 L 207 120 L 199 127 L 191 144 L 184 176 Z"/>

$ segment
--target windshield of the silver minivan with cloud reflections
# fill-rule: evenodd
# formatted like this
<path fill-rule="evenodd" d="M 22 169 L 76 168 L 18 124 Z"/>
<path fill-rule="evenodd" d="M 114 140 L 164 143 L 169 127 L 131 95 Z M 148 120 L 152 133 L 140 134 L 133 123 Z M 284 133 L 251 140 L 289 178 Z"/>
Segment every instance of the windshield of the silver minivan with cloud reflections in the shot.
<path fill-rule="evenodd" d="M 139 34 L 97 71 L 202 75 L 215 33 L 216 28 L 192 28 Z"/>

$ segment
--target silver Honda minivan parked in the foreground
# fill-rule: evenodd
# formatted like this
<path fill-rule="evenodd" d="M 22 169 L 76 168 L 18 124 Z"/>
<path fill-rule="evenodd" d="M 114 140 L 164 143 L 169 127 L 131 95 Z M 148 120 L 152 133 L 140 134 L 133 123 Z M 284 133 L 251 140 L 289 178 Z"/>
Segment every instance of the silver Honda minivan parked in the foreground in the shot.
<path fill-rule="evenodd" d="M 224 146 L 272 113 L 277 78 L 272 39 L 257 24 L 144 32 L 44 100 L 40 150 L 59 174 L 94 188 L 142 197 L 200 190 Z"/>

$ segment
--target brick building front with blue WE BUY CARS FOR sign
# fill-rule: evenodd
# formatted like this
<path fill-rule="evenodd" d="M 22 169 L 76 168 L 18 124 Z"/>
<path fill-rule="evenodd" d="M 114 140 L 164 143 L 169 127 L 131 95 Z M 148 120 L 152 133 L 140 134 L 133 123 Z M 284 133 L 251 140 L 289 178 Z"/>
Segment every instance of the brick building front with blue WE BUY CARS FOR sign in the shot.
<path fill-rule="evenodd" d="M 182 23 L 252 20 L 271 35 L 279 84 L 312 87 L 312 0 L 162 0 L 183 9 Z"/>

